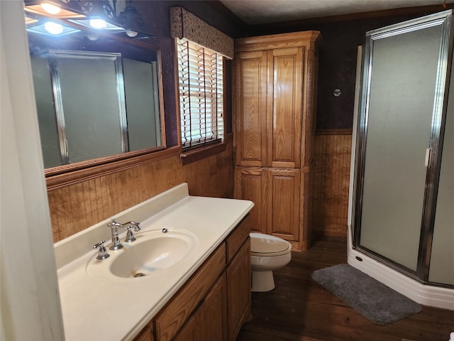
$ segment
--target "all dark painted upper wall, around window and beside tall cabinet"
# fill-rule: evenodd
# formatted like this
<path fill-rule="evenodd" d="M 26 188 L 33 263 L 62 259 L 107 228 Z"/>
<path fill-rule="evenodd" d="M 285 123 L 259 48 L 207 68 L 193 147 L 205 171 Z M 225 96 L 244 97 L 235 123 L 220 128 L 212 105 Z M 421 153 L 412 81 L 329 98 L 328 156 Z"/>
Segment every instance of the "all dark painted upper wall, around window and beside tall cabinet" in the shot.
<path fill-rule="evenodd" d="M 216 2 L 216 1 L 214 1 Z M 317 101 L 317 129 L 351 129 L 355 97 L 355 74 L 358 45 L 362 45 L 367 31 L 406 21 L 416 16 L 387 16 L 361 20 L 316 23 L 311 25 L 276 24 L 270 26 L 244 26 L 232 18 L 231 13 L 219 10 L 211 1 L 135 1 L 155 38 L 146 43 L 159 48 L 162 53 L 162 82 L 166 113 L 167 146 L 177 144 L 176 90 L 174 45 L 170 37 L 171 6 L 183 6 L 199 18 L 233 38 L 262 36 L 266 34 L 321 31 L 323 43 L 319 57 L 319 88 Z M 341 90 L 335 97 L 333 90 Z M 226 132 L 232 131 L 231 117 L 231 62 L 226 67 Z"/>

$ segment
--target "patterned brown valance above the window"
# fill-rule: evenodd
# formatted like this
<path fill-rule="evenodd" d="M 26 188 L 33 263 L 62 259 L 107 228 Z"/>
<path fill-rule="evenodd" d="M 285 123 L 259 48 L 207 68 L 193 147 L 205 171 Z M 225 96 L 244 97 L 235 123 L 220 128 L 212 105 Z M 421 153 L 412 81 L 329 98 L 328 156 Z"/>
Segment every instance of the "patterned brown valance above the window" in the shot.
<path fill-rule="evenodd" d="M 181 6 L 170 7 L 170 34 L 233 59 L 233 39 Z"/>

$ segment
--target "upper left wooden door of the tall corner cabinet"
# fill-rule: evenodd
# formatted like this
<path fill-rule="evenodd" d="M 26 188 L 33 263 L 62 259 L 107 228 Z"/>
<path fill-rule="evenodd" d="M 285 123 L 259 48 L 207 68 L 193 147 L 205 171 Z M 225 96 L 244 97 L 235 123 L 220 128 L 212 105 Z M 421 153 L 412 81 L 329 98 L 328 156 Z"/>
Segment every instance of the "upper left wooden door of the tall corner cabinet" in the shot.
<path fill-rule="evenodd" d="M 234 63 L 236 165 L 266 166 L 267 52 L 239 53 Z"/>

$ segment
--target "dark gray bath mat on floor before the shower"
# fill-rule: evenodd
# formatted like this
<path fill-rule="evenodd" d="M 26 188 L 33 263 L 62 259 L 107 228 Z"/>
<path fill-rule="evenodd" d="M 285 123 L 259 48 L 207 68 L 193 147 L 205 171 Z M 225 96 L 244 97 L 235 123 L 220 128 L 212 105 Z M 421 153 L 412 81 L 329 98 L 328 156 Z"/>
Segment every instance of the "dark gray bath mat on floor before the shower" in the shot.
<path fill-rule="evenodd" d="M 314 271 L 311 277 L 378 325 L 396 322 L 422 310 L 418 303 L 348 264 Z"/>

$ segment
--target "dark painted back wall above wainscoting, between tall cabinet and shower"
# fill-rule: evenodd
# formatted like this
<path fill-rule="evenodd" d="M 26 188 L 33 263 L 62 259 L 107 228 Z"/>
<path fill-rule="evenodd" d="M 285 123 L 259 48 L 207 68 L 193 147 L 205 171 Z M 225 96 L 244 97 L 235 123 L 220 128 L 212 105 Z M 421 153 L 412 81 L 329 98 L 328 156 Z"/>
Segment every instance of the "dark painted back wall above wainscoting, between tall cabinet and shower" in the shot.
<path fill-rule="evenodd" d="M 317 93 L 317 129 L 352 129 L 355 100 L 356 60 L 358 45 L 365 33 L 375 28 L 424 16 L 387 16 L 362 20 L 300 25 L 289 28 L 251 28 L 250 36 L 295 31 L 320 31 L 323 38 L 319 57 L 319 89 Z M 335 97 L 333 90 L 341 90 Z"/>

